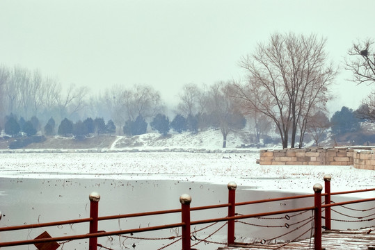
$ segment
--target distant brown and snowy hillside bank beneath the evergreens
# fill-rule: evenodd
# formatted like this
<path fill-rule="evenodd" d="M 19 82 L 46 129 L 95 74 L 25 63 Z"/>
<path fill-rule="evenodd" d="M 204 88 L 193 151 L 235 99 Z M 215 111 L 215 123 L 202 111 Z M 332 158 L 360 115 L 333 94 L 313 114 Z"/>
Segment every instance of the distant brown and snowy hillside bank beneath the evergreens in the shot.
<path fill-rule="evenodd" d="M 9 149 L 9 145 L 15 141 L 27 140 L 23 138 L 9 138 L 7 136 L 0 138 L 0 149 Z M 146 133 L 133 137 L 116 135 L 93 135 L 86 138 L 64 138 L 61 136 L 43 137 L 43 142 L 26 144 L 20 149 L 103 149 L 103 150 L 163 150 L 163 149 L 222 149 L 223 135 L 220 130 L 202 131 L 197 134 L 170 133 L 166 136 L 159 133 Z M 264 147 L 280 148 L 278 135 L 273 135 Z M 310 142 L 309 142 L 310 141 Z M 354 145 L 375 145 L 375 126 L 374 124 L 362 124 L 362 132 L 347 133 L 340 135 L 333 140 L 330 135 L 319 146 L 354 146 Z M 305 136 L 304 147 L 315 146 L 312 138 Z M 242 147 L 255 148 L 251 143 L 250 133 L 239 131 L 228 134 L 227 149 L 239 149 Z"/>

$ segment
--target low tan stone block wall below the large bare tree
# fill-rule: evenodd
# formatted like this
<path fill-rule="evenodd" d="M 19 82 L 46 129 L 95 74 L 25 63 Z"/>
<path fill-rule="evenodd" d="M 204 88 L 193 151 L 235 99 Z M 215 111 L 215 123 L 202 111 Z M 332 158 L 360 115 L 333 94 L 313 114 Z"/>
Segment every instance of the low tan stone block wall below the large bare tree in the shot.
<path fill-rule="evenodd" d="M 260 165 L 353 165 L 356 168 L 375 168 L 372 150 L 353 148 L 311 148 L 261 150 Z"/>

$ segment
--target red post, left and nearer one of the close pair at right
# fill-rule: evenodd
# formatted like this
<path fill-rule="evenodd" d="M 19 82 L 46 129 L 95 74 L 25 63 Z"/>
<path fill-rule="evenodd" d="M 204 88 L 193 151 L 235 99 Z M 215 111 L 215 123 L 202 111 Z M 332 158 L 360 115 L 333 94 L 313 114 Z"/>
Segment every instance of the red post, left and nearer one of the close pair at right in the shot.
<path fill-rule="evenodd" d="M 314 249 L 321 250 L 321 190 L 323 187 L 317 183 L 314 185 Z"/>

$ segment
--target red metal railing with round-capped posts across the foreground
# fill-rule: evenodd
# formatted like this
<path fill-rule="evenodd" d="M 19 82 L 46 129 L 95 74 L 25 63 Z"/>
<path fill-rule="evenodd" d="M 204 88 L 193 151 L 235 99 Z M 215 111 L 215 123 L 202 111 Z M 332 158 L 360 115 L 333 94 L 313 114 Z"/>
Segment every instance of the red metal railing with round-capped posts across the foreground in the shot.
<path fill-rule="evenodd" d="M 147 213 L 134 213 L 134 214 L 127 214 L 127 215 L 111 215 L 106 217 L 98 217 L 98 203 L 100 196 L 97 193 L 90 194 L 90 217 L 86 219 L 71 219 L 67 221 L 61 222 L 49 222 L 49 223 L 42 223 L 42 224 L 29 224 L 29 225 L 22 225 L 22 226 L 8 226 L 0 228 L 0 232 L 3 231 L 15 231 L 21 229 L 28 229 L 28 228 L 40 228 L 46 226 L 60 226 L 64 224 L 78 224 L 83 222 L 89 222 L 89 233 L 83 235 L 70 235 L 70 236 L 63 236 L 63 237 L 55 237 L 55 238 L 39 238 L 34 240 L 19 240 L 14 242 L 0 242 L 0 247 L 11 247 L 11 246 L 19 246 L 25 244 L 36 244 L 36 243 L 47 243 L 47 242 L 62 242 L 66 240 L 79 240 L 79 239 L 89 239 L 89 249 L 94 250 L 97 249 L 97 238 L 104 237 L 104 236 L 111 236 L 111 235 L 124 235 L 129 233 L 139 233 L 139 232 L 146 232 L 146 231 L 157 231 L 166 228 L 182 228 L 182 249 L 183 250 L 190 250 L 191 249 L 191 226 L 198 225 L 198 224 L 209 224 L 213 222 L 228 222 L 228 245 L 234 244 L 234 222 L 238 219 L 248 219 L 254 217 L 264 217 L 270 215 L 280 215 L 286 213 L 296 213 L 301 211 L 307 210 L 314 210 L 314 249 L 321 250 L 321 209 L 325 208 L 325 227 L 326 229 L 330 229 L 330 208 L 333 206 L 342 206 L 351 203 L 361 203 L 367 201 L 375 201 L 375 198 L 369 199 L 358 199 L 355 201 L 344 201 L 340 203 L 330 203 L 330 196 L 337 195 L 337 194 L 351 194 L 356 192 L 368 192 L 368 191 L 375 191 L 375 188 L 366 189 L 366 190 L 354 190 L 354 191 L 347 191 L 347 192 L 330 192 L 330 176 L 324 176 L 325 182 L 325 193 L 322 194 L 321 191 L 323 188 L 320 184 L 314 185 L 314 194 L 306 194 L 306 195 L 297 195 L 292 197 L 281 197 L 276 199 L 263 199 L 258 201 L 246 201 L 236 203 L 236 183 L 229 183 L 228 184 L 228 203 L 220 204 L 220 205 L 212 205 L 212 206 L 200 206 L 195 208 L 190 208 L 191 197 L 189 194 L 183 194 L 180 197 L 181 208 L 174 209 L 174 210 L 161 210 L 161 211 L 152 211 Z M 322 196 L 325 197 L 324 205 L 321 204 Z M 244 206 L 250 205 L 255 203 L 266 203 L 272 201 L 282 201 L 282 200 L 291 200 L 291 199 L 302 199 L 314 197 L 314 206 L 305 207 L 305 208 L 295 208 L 289 210 L 280 210 L 280 211 L 273 211 L 273 212 L 266 212 L 266 213 L 257 213 L 257 214 L 250 214 L 250 215 L 236 215 L 235 208 L 237 206 Z M 214 219 L 203 219 L 198 221 L 191 221 L 190 213 L 191 211 L 196 210 L 208 210 L 214 208 L 225 208 L 228 207 L 228 216 L 227 217 L 219 217 Z M 182 222 L 175 223 L 175 224 L 167 224 L 161 226 L 151 226 L 146 228 L 133 228 L 121 231 L 111 231 L 111 232 L 98 232 L 98 221 L 101 220 L 109 220 L 109 219 L 123 219 L 129 217 L 143 217 L 149 215 L 162 215 L 162 214 L 170 214 L 170 213 L 181 213 Z"/>

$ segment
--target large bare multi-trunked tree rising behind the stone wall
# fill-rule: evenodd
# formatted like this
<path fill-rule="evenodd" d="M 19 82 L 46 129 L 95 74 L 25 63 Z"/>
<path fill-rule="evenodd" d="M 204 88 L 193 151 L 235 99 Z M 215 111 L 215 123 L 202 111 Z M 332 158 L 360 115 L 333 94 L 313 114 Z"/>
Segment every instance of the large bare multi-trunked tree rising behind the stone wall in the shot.
<path fill-rule="evenodd" d="M 289 135 L 290 147 L 295 147 L 298 124 L 302 123 L 301 131 L 305 131 L 311 110 L 325 108 L 330 99 L 328 87 L 337 69 L 327 62 L 325 44 L 326 39 L 317 35 L 276 33 L 241 58 L 248 81 L 244 85 L 234 83 L 234 96 L 242 100 L 244 108 L 273 120 L 284 148 L 288 147 Z"/>

